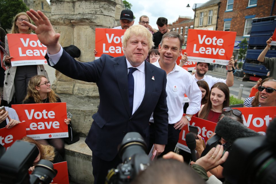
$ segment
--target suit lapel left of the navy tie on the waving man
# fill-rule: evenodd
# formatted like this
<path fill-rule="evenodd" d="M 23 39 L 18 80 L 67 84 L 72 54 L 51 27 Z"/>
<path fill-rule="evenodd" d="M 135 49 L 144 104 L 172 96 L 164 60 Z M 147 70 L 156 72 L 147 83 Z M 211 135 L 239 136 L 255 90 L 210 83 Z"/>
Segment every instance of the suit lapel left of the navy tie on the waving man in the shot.
<path fill-rule="evenodd" d="M 125 57 L 122 57 L 118 61 L 118 65 L 114 65 L 116 78 L 118 86 L 120 89 L 121 97 L 123 99 L 124 107 L 126 108 L 127 113 L 131 116 L 129 110 L 129 90 L 128 90 L 128 81 L 127 81 L 127 61 Z"/>

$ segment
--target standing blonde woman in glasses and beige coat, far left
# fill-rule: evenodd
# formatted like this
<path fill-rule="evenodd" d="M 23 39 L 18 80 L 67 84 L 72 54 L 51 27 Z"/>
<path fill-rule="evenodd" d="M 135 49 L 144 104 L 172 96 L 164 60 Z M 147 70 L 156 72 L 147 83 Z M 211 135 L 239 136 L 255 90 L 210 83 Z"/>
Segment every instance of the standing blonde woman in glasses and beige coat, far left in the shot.
<path fill-rule="evenodd" d="M 17 14 L 13 18 L 11 30 L 7 30 L 8 33 L 34 34 L 32 30 L 23 23 L 23 20 L 31 22 L 30 17 L 25 12 Z M 15 94 L 16 101 L 13 103 L 21 104 L 26 96 L 30 78 L 34 75 L 44 75 L 48 78 L 48 75 L 43 65 L 11 66 L 11 59 L 13 57 L 9 55 L 7 36 L 5 37 L 5 50 L 8 55 L 4 54 L 3 63 L 8 69 L 5 71 L 3 99 L 9 104 Z"/>

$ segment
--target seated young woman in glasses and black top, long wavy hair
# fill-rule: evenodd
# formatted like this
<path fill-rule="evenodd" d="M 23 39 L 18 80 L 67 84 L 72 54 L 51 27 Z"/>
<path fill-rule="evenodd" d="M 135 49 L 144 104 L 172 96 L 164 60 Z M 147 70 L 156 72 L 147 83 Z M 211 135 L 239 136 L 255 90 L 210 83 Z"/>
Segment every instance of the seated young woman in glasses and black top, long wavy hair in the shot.
<path fill-rule="evenodd" d="M 39 104 L 39 103 L 55 103 L 61 102 L 60 98 L 51 88 L 50 81 L 43 75 L 35 75 L 30 78 L 28 90 L 23 104 Z M 70 118 L 64 119 L 66 124 L 69 124 Z M 52 145 L 64 158 L 64 138 L 55 139 L 39 139 L 39 143 L 44 145 Z"/>

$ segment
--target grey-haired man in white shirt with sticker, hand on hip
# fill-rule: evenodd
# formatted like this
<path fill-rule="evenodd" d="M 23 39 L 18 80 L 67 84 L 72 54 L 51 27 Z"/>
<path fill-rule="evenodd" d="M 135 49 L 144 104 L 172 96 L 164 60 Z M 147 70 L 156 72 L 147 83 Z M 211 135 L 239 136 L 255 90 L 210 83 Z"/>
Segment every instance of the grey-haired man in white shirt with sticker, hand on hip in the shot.
<path fill-rule="evenodd" d="M 191 74 L 176 64 L 182 52 L 183 37 L 175 31 L 167 32 L 159 45 L 160 58 L 153 65 L 167 74 L 168 143 L 162 154 L 174 151 L 181 129 L 189 123 L 193 114 L 200 110 L 201 91 Z M 186 54 L 186 53 L 185 53 Z M 187 56 L 185 55 L 185 60 Z M 190 99 L 186 116 L 183 116 L 184 94 Z M 151 143 L 154 142 L 154 118 L 150 118 Z M 150 144 L 152 147 L 152 144 Z M 149 149 L 150 149 L 149 147 Z"/>

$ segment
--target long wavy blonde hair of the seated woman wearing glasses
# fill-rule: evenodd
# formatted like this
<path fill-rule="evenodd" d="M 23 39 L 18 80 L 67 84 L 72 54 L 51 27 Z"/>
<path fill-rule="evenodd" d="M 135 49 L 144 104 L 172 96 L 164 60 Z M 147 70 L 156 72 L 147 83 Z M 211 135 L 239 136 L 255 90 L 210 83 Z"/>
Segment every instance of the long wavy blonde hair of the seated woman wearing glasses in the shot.
<path fill-rule="evenodd" d="M 39 95 L 39 91 L 35 87 L 37 87 L 41 83 L 41 78 L 45 77 L 44 75 L 35 75 L 32 78 L 30 78 L 30 81 L 28 83 L 28 89 L 27 89 L 27 95 L 25 99 L 23 100 L 23 103 L 28 98 L 32 97 L 36 104 L 44 103 L 42 101 L 41 96 Z M 46 78 L 46 77 L 45 77 Z M 48 99 L 50 103 L 57 102 L 58 96 L 55 94 L 55 91 L 51 89 L 51 92 L 47 93 Z"/>

